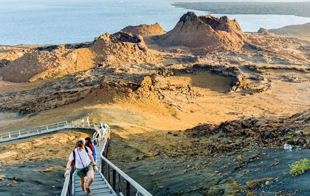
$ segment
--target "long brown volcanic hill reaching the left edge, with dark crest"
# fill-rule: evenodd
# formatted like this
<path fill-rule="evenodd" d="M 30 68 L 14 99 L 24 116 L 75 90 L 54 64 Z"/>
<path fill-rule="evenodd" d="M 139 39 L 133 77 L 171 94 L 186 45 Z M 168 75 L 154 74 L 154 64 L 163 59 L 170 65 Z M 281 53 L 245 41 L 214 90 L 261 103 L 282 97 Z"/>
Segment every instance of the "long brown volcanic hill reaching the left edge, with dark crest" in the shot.
<path fill-rule="evenodd" d="M 16 49 L 0 55 L 0 76 L 10 82 L 60 77 L 98 65 L 157 64 L 141 36 L 119 32 L 103 34 L 91 43 Z"/>

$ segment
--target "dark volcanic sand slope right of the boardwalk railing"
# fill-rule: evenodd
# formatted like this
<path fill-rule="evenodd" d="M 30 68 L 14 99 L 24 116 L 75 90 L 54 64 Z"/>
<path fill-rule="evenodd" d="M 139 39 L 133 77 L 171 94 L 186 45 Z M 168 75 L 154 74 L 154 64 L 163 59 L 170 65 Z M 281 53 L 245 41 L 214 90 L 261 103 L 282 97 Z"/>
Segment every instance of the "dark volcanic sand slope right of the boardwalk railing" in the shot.
<path fill-rule="evenodd" d="M 239 155 L 243 160 L 258 158 L 242 166 Z M 310 172 L 297 177 L 283 175 L 290 171 L 288 164 L 302 158 L 310 158 L 309 149 L 292 152 L 255 149 L 219 158 L 155 157 L 131 163 L 123 170 L 154 196 L 245 196 L 248 192 L 262 196 L 309 196 Z M 247 188 L 249 180 L 267 177 L 273 178 L 267 180 L 268 185 L 263 181 L 254 189 Z"/>

